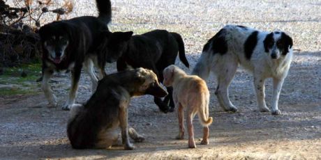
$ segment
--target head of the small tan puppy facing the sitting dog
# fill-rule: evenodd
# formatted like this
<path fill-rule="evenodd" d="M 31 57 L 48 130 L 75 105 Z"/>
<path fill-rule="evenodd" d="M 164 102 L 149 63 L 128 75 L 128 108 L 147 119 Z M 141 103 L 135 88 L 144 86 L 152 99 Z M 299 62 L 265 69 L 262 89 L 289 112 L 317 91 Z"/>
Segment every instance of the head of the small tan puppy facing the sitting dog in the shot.
<path fill-rule="evenodd" d="M 183 70 L 181 70 L 176 65 L 169 65 L 163 70 L 164 80 L 163 84 L 164 86 L 170 87 L 172 86 L 174 82 L 174 76 L 175 74 L 185 74 Z"/>

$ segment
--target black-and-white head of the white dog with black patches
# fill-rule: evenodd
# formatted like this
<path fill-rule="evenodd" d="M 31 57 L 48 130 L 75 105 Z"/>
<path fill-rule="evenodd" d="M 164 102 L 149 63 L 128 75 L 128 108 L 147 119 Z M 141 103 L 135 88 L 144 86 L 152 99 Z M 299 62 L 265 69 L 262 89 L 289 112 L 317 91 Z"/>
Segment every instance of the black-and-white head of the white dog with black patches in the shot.
<path fill-rule="evenodd" d="M 265 52 L 272 59 L 278 59 L 292 51 L 293 40 L 284 32 L 274 31 L 267 35 L 263 43 Z"/>

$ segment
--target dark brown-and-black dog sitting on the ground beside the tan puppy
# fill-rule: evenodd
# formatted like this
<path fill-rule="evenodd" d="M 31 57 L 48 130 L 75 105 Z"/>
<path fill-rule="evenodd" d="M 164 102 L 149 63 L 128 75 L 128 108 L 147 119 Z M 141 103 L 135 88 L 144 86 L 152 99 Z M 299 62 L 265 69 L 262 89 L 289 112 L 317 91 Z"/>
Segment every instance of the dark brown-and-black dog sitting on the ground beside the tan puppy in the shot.
<path fill-rule="evenodd" d="M 111 147 L 120 127 L 125 149 L 133 150 L 128 139 L 127 107 L 130 97 L 139 95 L 164 97 L 167 92 L 159 86 L 156 74 L 143 68 L 104 77 L 87 104 L 71 108 L 67 128 L 71 145 L 76 149 Z M 144 140 L 132 128 L 129 136 L 135 141 Z"/>

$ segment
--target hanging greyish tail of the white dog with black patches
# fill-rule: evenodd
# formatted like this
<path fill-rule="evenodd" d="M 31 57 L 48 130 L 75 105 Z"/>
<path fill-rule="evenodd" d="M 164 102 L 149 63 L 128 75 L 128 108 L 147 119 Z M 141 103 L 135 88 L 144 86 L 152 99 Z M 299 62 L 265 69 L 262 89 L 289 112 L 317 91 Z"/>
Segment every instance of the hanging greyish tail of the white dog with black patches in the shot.
<path fill-rule="evenodd" d="M 207 42 L 207 44 L 204 45 L 202 54 L 192 72 L 193 75 L 201 77 L 202 79 L 204 79 L 204 81 L 207 81 L 207 78 L 209 77 L 209 73 L 211 71 L 211 66 L 213 65 L 214 61 L 214 54 L 211 52 L 209 46 L 210 42 Z"/>

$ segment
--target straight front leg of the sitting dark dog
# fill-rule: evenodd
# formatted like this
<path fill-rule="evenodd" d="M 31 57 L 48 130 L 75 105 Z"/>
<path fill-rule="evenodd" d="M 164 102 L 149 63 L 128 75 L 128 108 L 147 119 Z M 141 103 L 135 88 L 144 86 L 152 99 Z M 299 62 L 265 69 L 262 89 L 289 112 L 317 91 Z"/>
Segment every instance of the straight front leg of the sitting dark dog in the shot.
<path fill-rule="evenodd" d="M 121 105 L 119 109 L 119 122 L 121 127 L 121 140 L 123 141 L 123 145 L 125 150 L 133 150 L 134 145 L 130 143 L 128 138 L 128 113 L 127 106 Z"/>

